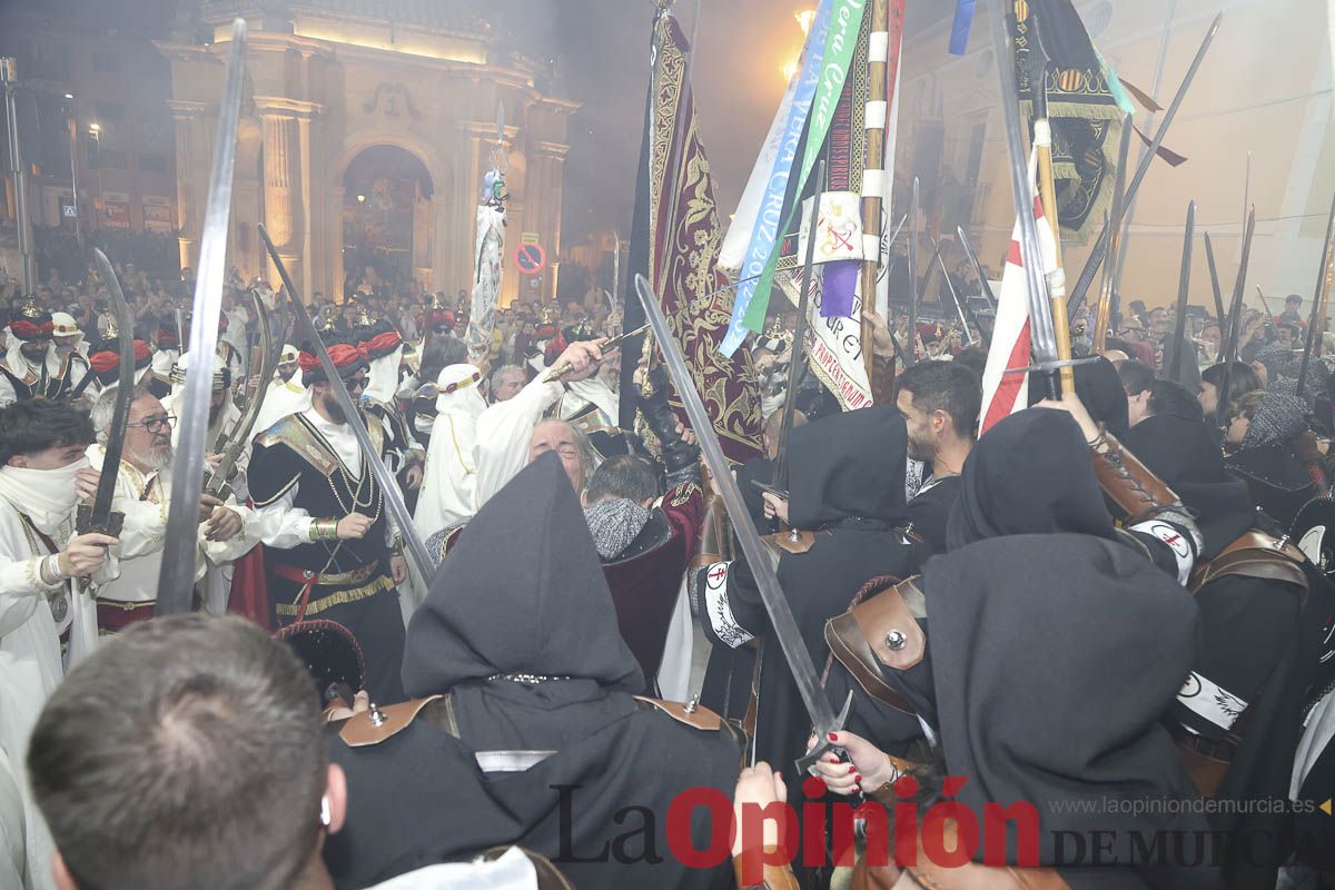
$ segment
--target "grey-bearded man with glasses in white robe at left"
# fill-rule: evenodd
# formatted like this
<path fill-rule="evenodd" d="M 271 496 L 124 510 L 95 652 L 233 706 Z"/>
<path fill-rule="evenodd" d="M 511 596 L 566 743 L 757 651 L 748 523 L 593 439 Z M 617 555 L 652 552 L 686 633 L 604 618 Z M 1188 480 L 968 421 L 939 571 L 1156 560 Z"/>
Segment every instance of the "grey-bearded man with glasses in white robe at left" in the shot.
<path fill-rule="evenodd" d="M 115 407 L 115 390 L 92 407 L 99 444 L 88 448 L 88 459 L 99 470 L 105 456 L 100 443 L 107 439 Z M 120 576 L 97 590 L 97 632 L 104 636 L 152 618 L 158 604 L 158 575 L 171 504 L 174 422 L 152 392 L 144 387 L 135 390 L 112 500 L 112 508 L 125 515 L 120 544 L 112 548 L 120 559 Z M 207 611 L 222 614 L 231 592 L 232 563 L 255 547 L 259 523 L 250 508 L 236 503 L 234 494 L 226 499 L 202 494 L 199 523 L 195 590 Z"/>

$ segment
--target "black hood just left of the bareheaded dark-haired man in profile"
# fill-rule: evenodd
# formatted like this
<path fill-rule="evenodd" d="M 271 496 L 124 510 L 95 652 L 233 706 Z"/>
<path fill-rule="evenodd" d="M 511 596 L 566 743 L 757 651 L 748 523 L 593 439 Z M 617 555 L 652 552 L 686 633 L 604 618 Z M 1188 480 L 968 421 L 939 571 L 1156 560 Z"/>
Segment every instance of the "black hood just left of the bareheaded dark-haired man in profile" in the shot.
<path fill-rule="evenodd" d="M 789 434 L 788 518 L 797 528 L 904 518 L 908 431 L 890 406 L 833 414 Z"/>

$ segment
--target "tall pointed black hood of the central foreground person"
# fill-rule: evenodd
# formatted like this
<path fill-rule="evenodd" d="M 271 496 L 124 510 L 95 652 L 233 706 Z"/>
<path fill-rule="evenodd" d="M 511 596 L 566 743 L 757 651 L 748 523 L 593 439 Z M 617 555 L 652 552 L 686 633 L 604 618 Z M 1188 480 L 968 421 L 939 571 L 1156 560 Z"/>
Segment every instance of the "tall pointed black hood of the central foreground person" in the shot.
<path fill-rule="evenodd" d="M 494 674 L 593 679 L 639 693 L 611 591 L 561 459 L 525 467 L 450 548 L 409 624 L 413 698 Z"/>

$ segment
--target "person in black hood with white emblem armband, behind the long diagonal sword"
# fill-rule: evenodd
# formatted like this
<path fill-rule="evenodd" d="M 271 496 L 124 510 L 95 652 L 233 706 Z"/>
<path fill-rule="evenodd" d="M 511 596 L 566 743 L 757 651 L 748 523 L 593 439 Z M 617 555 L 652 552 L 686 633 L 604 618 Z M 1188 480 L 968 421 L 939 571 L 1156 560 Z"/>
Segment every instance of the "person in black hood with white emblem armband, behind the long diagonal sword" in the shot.
<path fill-rule="evenodd" d="M 908 576 L 928 552 L 896 530 L 905 522 L 905 447 L 904 419 L 890 406 L 812 420 L 789 440 L 789 499 L 765 495 L 781 519 L 802 531 L 797 543 L 786 531 L 768 540 L 778 548 L 778 582 L 817 669 L 828 656 L 825 620 L 846 610 L 868 578 Z M 748 643 L 769 631 L 754 576 L 737 559 L 697 570 L 690 583 L 692 611 L 714 644 L 701 701 L 741 718 L 756 663 Z M 802 754 L 809 719 L 777 643 L 764 643 L 760 660 L 757 757 L 796 781 L 793 762 Z M 916 734 L 916 722 L 902 729 Z"/>

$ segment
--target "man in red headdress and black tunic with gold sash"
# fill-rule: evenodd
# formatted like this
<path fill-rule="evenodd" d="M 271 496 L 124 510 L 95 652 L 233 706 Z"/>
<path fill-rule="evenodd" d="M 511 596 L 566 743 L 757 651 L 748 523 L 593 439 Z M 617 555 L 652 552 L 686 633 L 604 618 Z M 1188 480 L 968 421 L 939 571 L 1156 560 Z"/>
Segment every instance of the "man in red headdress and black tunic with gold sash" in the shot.
<path fill-rule="evenodd" d="M 366 354 L 328 347 L 354 399 L 366 388 Z M 255 438 L 250 494 L 270 552 L 264 567 L 275 626 L 327 619 L 347 627 L 366 658 L 367 690 L 378 705 L 403 699 L 403 616 L 396 584 L 407 576 L 402 538 L 319 359 L 299 356 L 308 408 Z M 362 415 L 371 440 L 387 447 L 380 422 Z"/>

